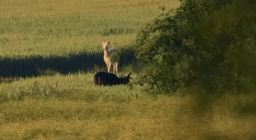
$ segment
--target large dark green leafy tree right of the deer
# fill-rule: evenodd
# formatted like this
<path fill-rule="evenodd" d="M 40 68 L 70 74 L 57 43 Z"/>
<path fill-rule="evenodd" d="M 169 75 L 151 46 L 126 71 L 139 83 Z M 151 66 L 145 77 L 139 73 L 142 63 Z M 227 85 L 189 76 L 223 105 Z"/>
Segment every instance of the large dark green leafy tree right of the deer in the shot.
<path fill-rule="evenodd" d="M 208 93 L 249 92 L 256 69 L 254 0 L 181 0 L 142 30 L 135 43 L 139 82 L 164 93 L 198 86 Z"/>

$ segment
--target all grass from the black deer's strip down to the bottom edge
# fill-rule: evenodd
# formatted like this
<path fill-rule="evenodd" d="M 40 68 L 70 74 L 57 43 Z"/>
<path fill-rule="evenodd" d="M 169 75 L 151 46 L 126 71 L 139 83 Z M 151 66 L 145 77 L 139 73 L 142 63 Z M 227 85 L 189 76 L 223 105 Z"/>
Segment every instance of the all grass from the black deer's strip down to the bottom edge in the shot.
<path fill-rule="evenodd" d="M 95 87 L 92 77 L 93 74 L 55 75 L 2 84 L 0 138 L 254 139 L 256 136 L 255 95 L 152 97 L 142 87 Z"/>

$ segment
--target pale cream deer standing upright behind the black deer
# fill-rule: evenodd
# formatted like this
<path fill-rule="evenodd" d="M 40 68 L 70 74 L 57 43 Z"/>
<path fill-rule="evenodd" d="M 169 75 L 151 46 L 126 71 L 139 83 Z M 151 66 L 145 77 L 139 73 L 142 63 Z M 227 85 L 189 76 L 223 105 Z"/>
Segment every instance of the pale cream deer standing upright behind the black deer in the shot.
<path fill-rule="evenodd" d="M 110 73 L 111 65 L 113 65 L 113 73 L 116 73 L 118 63 L 117 63 L 117 61 L 112 61 L 110 56 L 111 56 L 112 52 L 117 51 L 117 48 L 108 49 L 108 45 L 110 44 L 109 41 L 108 42 L 103 42 L 102 44 L 103 44 L 103 51 L 104 51 L 103 59 L 104 59 L 106 65 L 107 65 L 107 72 Z"/>

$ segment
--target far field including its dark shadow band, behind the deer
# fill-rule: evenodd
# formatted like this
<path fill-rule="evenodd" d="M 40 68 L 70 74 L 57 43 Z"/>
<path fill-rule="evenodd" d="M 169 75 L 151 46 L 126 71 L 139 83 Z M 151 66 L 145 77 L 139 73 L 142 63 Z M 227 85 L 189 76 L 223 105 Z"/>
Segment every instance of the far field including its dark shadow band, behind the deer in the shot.
<path fill-rule="evenodd" d="M 103 41 L 127 47 L 145 25 L 178 0 L 1 1 L 0 75 L 33 76 L 37 70 L 90 70 L 103 66 Z M 124 56 L 121 65 L 133 61 Z M 128 60 L 128 61 L 127 61 Z"/>

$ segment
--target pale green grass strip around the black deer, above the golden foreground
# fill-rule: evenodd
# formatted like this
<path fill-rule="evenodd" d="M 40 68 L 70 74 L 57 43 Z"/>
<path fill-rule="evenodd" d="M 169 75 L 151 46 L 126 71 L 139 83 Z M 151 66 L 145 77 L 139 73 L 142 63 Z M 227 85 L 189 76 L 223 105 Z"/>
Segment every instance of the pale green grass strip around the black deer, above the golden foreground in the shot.
<path fill-rule="evenodd" d="M 135 78 L 135 75 L 132 75 Z M 0 87 L 0 101 L 19 101 L 26 97 L 36 99 L 49 97 L 78 97 L 80 100 L 90 100 L 91 94 L 106 97 L 141 97 L 140 87 L 133 90 L 125 86 L 99 88 L 94 86 L 94 74 L 41 76 L 36 78 L 19 79 L 13 83 L 4 83 Z M 92 99 L 94 100 L 94 99 Z"/>

